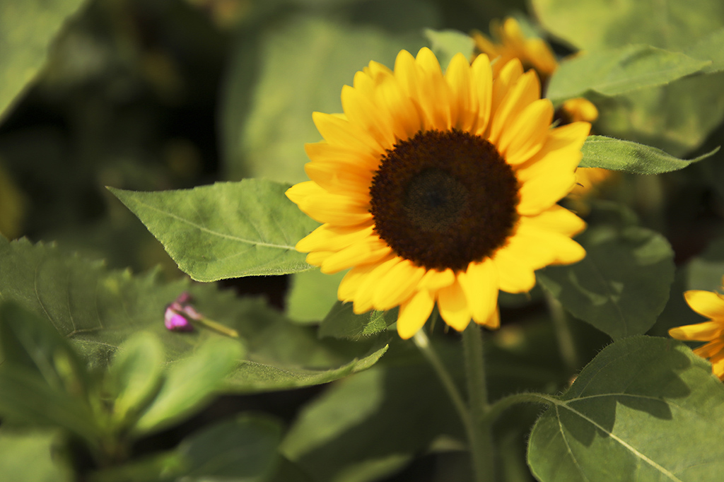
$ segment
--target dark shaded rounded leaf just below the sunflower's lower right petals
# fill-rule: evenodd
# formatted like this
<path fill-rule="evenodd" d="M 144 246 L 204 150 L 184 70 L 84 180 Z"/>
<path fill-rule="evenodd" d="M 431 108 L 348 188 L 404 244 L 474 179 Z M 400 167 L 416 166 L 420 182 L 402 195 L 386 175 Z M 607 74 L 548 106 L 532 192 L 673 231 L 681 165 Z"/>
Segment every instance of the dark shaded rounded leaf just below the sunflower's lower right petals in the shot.
<path fill-rule="evenodd" d="M 613 339 L 645 333 L 669 297 L 674 277 L 669 243 L 632 225 L 591 227 L 576 240 L 586 258 L 538 271 L 542 287 L 573 316 Z"/>

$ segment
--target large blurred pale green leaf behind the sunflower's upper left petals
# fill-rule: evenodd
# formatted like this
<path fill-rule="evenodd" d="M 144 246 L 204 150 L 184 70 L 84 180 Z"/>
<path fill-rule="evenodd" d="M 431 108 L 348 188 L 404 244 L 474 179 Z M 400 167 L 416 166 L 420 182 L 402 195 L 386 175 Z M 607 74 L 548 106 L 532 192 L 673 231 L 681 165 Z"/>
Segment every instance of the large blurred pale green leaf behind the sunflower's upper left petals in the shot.
<path fill-rule="evenodd" d="M 355 72 L 372 60 L 392 67 L 398 51 L 422 46 L 417 33 L 301 15 L 240 38 L 221 103 L 227 177 L 307 180 L 304 143 L 321 138 L 312 112 L 342 111 L 342 85 L 351 85 Z"/>

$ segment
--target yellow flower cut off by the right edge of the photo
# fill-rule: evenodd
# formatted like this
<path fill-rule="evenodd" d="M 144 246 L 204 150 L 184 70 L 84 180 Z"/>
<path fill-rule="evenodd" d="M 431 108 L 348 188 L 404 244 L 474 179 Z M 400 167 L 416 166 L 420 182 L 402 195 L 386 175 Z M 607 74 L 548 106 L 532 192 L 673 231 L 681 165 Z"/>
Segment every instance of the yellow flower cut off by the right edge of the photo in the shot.
<path fill-rule="evenodd" d="M 712 362 L 712 373 L 724 380 L 724 296 L 699 289 L 683 295 L 692 310 L 710 319 L 695 325 L 677 326 L 670 329 L 669 334 L 675 339 L 708 342 L 696 348 L 694 353 L 708 358 Z"/>

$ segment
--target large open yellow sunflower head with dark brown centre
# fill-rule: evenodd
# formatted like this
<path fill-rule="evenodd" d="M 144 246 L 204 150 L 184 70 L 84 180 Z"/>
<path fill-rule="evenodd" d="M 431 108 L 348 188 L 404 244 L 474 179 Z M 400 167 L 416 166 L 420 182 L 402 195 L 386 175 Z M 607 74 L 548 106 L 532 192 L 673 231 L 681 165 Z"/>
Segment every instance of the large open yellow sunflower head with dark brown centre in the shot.
<path fill-rule="evenodd" d="M 528 292 L 534 271 L 575 263 L 585 223 L 557 206 L 576 182 L 587 122 L 552 128 L 533 70 L 518 59 L 493 76 L 462 54 L 443 75 L 432 51 L 371 62 L 342 88 L 344 114 L 315 112 L 312 179 L 287 196 L 323 223 L 296 248 L 332 274 L 355 313 L 397 306 L 407 339 L 437 303 L 462 331 L 497 328 L 497 294 Z"/>

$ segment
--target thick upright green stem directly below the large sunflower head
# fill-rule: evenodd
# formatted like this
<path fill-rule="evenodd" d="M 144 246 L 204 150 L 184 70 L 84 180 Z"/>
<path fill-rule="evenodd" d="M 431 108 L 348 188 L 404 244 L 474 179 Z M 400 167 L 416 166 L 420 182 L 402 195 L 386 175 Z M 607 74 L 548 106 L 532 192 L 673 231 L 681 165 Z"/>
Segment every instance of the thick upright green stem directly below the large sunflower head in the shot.
<path fill-rule="evenodd" d="M 492 482 L 495 480 L 493 420 L 486 417 L 490 405 L 485 376 L 482 329 L 477 324 L 471 323 L 463 331 L 463 352 L 472 422 L 469 438 L 473 470 L 477 482 Z"/>

